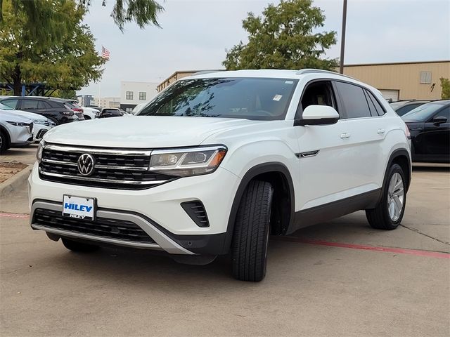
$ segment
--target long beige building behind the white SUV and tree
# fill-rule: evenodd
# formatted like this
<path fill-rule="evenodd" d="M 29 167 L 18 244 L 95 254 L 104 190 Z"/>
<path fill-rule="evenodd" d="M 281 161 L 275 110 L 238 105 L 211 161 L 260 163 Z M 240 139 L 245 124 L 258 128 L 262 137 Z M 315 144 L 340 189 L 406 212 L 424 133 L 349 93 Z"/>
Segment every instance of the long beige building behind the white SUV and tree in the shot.
<path fill-rule="evenodd" d="M 199 71 L 174 72 L 157 90 Z M 345 65 L 344 74 L 378 88 L 387 100 L 438 100 L 442 91 L 439 78 L 450 78 L 450 60 Z"/>

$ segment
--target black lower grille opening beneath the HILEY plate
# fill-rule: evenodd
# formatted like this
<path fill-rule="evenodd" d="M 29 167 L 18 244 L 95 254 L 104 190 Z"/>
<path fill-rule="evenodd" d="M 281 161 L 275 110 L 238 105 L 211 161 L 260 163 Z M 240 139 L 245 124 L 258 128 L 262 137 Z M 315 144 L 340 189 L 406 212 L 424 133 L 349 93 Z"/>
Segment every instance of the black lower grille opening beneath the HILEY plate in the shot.
<path fill-rule="evenodd" d="M 108 218 L 96 218 L 94 221 L 81 220 L 63 216 L 60 211 L 36 209 L 32 223 L 55 230 L 88 234 L 93 237 L 155 244 L 155 241 L 141 227 L 131 221 Z"/>

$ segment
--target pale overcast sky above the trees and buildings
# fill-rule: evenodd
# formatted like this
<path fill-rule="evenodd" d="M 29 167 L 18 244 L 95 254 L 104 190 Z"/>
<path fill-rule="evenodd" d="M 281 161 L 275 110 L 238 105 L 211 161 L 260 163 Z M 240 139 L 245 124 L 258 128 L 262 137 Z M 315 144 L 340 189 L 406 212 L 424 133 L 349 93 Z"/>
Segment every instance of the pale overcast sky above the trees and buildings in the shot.
<path fill-rule="evenodd" d="M 269 3 L 260 0 L 166 0 L 159 17 L 162 29 L 139 29 L 129 23 L 120 32 L 110 18 L 115 0 L 93 3 L 85 22 L 96 48 L 108 48 L 110 61 L 101 79 L 101 96 L 120 95 L 120 81 L 160 82 L 176 70 L 221 69 L 226 48 L 247 34 L 242 20 L 260 15 Z M 320 31 L 338 32 L 329 58 L 338 58 L 342 0 L 316 0 L 326 16 Z M 449 0 L 348 0 L 345 64 L 450 59 Z M 79 94 L 97 96 L 98 84 Z"/>

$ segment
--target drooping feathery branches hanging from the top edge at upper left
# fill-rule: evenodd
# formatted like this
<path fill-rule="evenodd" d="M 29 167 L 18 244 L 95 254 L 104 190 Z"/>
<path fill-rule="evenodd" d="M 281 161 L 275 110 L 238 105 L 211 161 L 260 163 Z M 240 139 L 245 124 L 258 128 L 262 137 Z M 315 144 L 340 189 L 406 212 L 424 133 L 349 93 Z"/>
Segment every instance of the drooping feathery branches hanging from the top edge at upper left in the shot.
<path fill-rule="evenodd" d="M 2 18 L 2 1 L 6 2 L 7 0 L 0 0 L 0 22 L 3 20 Z M 47 26 L 49 21 L 51 21 L 51 17 L 46 14 L 46 9 L 42 8 L 42 4 L 45 2 L 49 2 L 51 0 L 13 0 L 14 9 L 22 8 L 25 13 L 28 15 L 30 26 L 28 29 L 32 29 L 34 34 L 46 34 L 46 32 L 42 32 L 40 29 L 37 29 L 39 25 L 44 24 Z M 83 6 L 86 10 L 89 9 L 89 6 L 96 1 L 100 2 L 103 6 L 106 6 L 107 0 L 75 0 L 80 6 Z M 120 28 L 121 31 L 124 29 L 124 24 L 127 22 L 136 22 L 136 24 L 143 28 L 146 25 L 153 24 L 157 27 L 160 27 L 158 23 L 158 14 L 164 11 L 164 8 L 158 4 L 155 0 L 110 0 L 115 1 L 113 7 L 113 13 L 111 13 L 111 17 L 113 18 L 115 24 Z M 45 7 L 45 6 L 44 6 Z M 51 35 L 51 34 L 49 34 Z"/>

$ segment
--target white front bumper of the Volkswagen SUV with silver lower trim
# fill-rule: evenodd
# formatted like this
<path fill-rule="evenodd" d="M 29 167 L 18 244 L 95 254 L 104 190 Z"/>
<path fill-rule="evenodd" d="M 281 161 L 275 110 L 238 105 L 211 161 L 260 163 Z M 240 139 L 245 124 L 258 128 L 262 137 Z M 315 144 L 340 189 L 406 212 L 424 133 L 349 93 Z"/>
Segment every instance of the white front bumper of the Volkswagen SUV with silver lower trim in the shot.
<path fill-rule="evenodd" d="M 157 246 L 139 248 L 162 249 L 176 254 L 227 253 L 229 214 L 240 179 L 225 169 L 212 174 L 181 178 L 147 190 L 114 190 L 53 183 L 39 178 L 37 164 L 29 178 L 31 219 L 38 208 L 62 211 L 63 194 L 96 198 L 97 216 L 126 220 L 139 225 Z M 199 227 L 181 203 L 200 200 L 205 206 L 209 227 Z M 60 236 L 74 237 L 70 232 L 56 232 L 31 224 L 34 229 Z M 79 239 L 130 246 L 127 242 L 99 239 L 89 235 Z"/>

